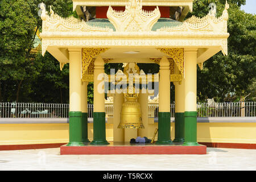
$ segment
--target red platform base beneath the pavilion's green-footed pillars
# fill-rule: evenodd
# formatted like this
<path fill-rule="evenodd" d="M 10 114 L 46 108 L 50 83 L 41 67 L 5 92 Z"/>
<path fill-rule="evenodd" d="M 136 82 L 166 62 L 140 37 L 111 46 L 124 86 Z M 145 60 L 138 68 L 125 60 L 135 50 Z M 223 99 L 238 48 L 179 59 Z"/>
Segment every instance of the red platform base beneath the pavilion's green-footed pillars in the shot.
<path fill-rule="evenodd" d="M 60 155 L 109 155 L 109 154 L 207 154 L 207 146 L 182 146 L 181 143 L 158 145 L 150 143 L 109 142 L 109 145 L 60 147 Z"/>

